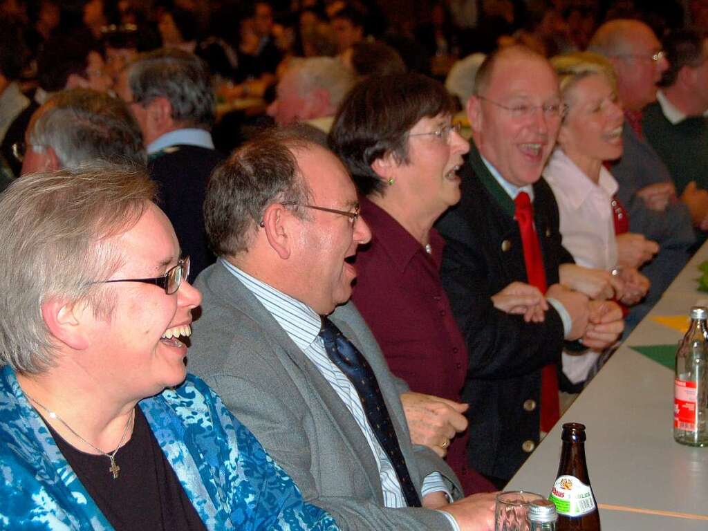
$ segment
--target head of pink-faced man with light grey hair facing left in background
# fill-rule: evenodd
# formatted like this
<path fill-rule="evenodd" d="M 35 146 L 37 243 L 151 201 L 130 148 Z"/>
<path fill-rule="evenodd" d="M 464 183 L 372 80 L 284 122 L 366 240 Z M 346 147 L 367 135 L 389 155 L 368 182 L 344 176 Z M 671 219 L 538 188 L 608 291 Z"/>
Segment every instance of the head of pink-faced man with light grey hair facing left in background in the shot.
<path fill-rule="evenodd" d="M 295 60 L 280 79 L 268 114 L 278 125 L 307 122 L 329 132 L 339 103 L 355 82 L 354 72 L 334 57 Z"/>

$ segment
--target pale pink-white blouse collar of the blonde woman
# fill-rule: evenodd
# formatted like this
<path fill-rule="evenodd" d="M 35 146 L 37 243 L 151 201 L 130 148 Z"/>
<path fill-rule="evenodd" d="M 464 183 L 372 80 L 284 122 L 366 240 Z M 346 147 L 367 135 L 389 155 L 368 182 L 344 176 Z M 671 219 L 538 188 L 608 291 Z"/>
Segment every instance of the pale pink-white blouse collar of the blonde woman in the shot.
<path fill-rule="evenodd" d="M 554 188 L 562 190 L 573 210 L 577 210 L 600 187 L 612 197 L 617 193 L 617 181 L 605 166 L 600 166 L 600 178 L 595 184 L 581 171 L 565 152 L 556 147 L 548 161 L 544 175 L 549 176 Z"/>

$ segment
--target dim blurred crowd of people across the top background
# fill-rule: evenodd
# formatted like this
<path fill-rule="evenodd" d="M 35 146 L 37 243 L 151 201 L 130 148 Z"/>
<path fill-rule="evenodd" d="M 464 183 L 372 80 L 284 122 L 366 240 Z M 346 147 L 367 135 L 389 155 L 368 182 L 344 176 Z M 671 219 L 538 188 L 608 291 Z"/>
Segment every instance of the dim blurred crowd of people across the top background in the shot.
<path fill-rule="evenodd" d="M 379 6 L 373 0 L 4 0 L 2 47 L 10 52 L 2 75 L 7 84 L 19 84 L 29 103 L 18 95 L 8 102 L 24 112 L 11 111 L 19 118 L 16 127 L 0 130 L 7 139 L 3 167 L 17 174 L 10 147 L 49 94 L 77 86 L 115 91 L 127 62 L 159 47 L 204 59 L 221 103 L 263 98 L 268 105 L 277 99 L 287 69 L 302 59 L 336 57 L 356 76 L 407 71 L 444 81 L 450 74 L 448 89 L 464 105 L 468 94 L 458 86 L 469 85 L 484 54 L 498 46 L 518 42 L 552 57 L 585 50 L 598 25 L 611 18 L 641 18 L 656 35 L 686 21 L 700 26 L 708 20 L 701 1 L 689 6 L 684 13 L 675 1 L 438 0 L 417 2 L 411 6 L 417 12 L 401 13 L 395 2 Z M 309 84 L 299 91 L 329 89 L 334 79 L 346 78 L 335 69 L 320 62 L 319 75 L 307 74 Z M 339 85 L 332 101 L 320 102 L 329 105 L 329 115 L 348 88 L 343 81 Z M 214 130 L 215 146 L 224 153 L 249 137 L 252 126 L 268 121 L 263 107 L 224 108 Z M 320 118 L 322 112 L 306 108 L 298 118 Z"/>

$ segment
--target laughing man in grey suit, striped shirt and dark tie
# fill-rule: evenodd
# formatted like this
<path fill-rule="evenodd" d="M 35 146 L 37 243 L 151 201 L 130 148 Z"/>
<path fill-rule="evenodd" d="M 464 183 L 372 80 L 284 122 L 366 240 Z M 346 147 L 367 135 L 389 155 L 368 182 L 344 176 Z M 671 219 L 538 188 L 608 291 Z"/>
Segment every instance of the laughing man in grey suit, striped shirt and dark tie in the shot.
<path fill-rule="evenodd" d="M 348 301 L 356 249 L 371 236 L 336 156 L 297 130 L 268 132 L 215 171 L 204 211 L 220 258 L 195 282 L 204 298 L 190 371 L 304 499 L 342 529 L 490 530 L 493 495 L 460 499 L 445 462 L 411 444 L 404 384 L 351 304 L 332 313 Z M 355 362 L 341 365 L 344 348 Z M 367 377 L 347 376 L 353 366 Z"/>

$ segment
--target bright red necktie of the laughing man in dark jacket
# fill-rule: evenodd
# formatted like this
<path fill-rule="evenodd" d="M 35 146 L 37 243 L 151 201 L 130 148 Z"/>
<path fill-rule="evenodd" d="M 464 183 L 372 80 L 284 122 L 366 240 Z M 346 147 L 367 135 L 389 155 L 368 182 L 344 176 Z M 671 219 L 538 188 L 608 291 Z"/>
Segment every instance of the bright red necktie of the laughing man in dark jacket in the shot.
<path fill-rule="evenodd" d="M 524 248 L 524 262 L 529 284 L 546 292 L 546 271 L 538 236 L 533 227 L 533 206 L 529 195 L 520 192 L 514 200 L 514 217 L 519 224 L 521 244 Z M 541 430 L 548 433 L 561 416 L 558 401 L 558 375 L 556 365 L 546 365 L 541 372 Z"/>

